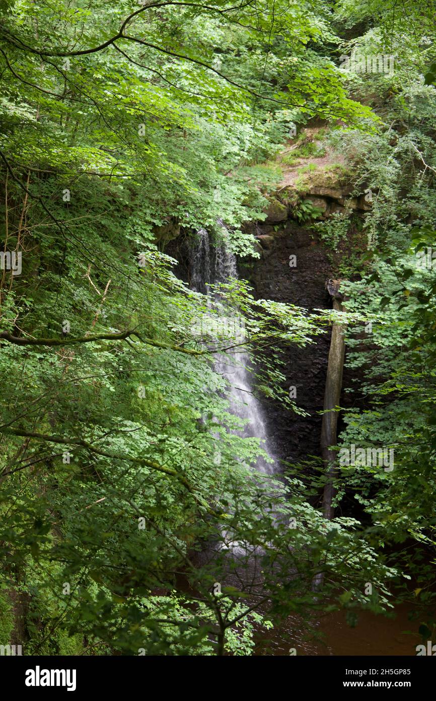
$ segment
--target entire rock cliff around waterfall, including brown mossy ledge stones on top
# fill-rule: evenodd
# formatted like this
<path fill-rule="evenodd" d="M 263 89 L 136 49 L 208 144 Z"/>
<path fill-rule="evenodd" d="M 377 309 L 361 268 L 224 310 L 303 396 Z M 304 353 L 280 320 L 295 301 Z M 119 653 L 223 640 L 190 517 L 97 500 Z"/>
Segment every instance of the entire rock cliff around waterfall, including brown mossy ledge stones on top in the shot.
<path fill-rule="evenodd" d="M 328 252 L 316 234 L 306 226 L 297 224 L 292 219 L 292 203 L 295 190 L 290 184 L 281 188 L 275 198 L 269 200 L 265 213 L 265 222 L 247 223 L 244 231 L 255 237 L 255 250 L 258 259 L 239 261 L 241 278 L 249 280 L 258 299 L 272 299 L 304 307 L 308 311 L 316 308 L 331 308 L 330 290 L 336 289 L 338 280 L 332 280 L 332 269 Z M 331 182 L 308 185 L 304 191 L 304 200 L 310 200 L 318 210 L 317 217 L 325 219 L 335 212 L 352 211 L 363 214 L 371 205 L 365 195 L 351 198 L 351 186 L 339 186 Z M 189 282 L 188 239 L 171 241 L 167 252 L 178 259 L 178 274 Z M 290 266 L 290 257 L 295 257 L 295 266 Z M 294 259 L 292 259 L 293 261 Z M 327 283 L 327 284 L 326 284 Z M 314 336 L 314 343 L 297 348 L 283 347 L 286 365 L 280 372 L 286 377 L 283 389 L 286 393 L 291 387 L 296 388 L 295 402 L 307 411 L 308 416 L 299 416 L 283 409 L 281 404 L 271 399 L 263 402 L 267 419 L 267 435 L 276 457 L 283 463 L 299 463 L 319 458 L 321 464 L 321 424 L 328 367 L 331 331 L 325 327 L 325 333 Z M 274 348 L 272 348 L 274 351 Z M 347 370 L 344 383 L 350 386 Z M 347 395 L 342 397 L 342 405 L 349 402 Z M 340 423 L 339 418 L 339 423 Z M 340 427 L 339 427 L 340 428 Z"/>

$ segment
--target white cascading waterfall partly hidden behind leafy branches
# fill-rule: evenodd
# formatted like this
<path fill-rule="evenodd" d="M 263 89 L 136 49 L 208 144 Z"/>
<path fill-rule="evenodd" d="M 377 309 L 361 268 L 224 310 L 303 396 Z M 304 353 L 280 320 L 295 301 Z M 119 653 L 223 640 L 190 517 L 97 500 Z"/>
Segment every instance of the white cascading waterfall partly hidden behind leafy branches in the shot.
<path fill-rule="evenodd" d="M 214 302 L 219 301 L 219 296 L 218 299 L 216 296 L 212 297 L 210 285 L 225 283 L 228 278 L 238 277 L 236 257 L 225 243 L 212 247 L 209 234 L 204 229 L 200 229 L 197 234 L 199 240 L 192 248 L 190 257 L 190 287 L 197 292 L 208 294 L 212 306 Z M 268 449 L 262 404 L 253 396 L 250 365 L 248 353 L 234 351 L 227 355 L 217 355 L 214 367 L 230 385 L 230 411 L 246 421 L 244 430 L 235 433 L 243 437 L 260 438 L 262 448 L 272 457 Z M 270 475 L 274 472 L 274 464 L 268 463 L 260 456 L 256 469 Z"/>

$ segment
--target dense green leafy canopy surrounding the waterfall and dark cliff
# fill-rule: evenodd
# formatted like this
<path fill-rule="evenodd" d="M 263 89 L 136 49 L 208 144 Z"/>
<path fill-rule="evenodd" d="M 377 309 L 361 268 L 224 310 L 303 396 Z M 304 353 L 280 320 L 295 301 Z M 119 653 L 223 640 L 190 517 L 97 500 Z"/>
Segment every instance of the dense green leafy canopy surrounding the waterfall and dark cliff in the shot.
<path fill-rule="evenodd" d="M 430 635 L 435 8 L 396 5 L 0 2 L 1 248 L 15 253 L 0 271 L 0 629 L 26 654 L 249 655 L 290 613 L 311 631 L 395 597 Z M 347 74 L 353 50 L 395 56 L 393 74 Z M 244 225 L 265 219 L 276 155 L 314 119 L 372 193 L 363 217 L 314 224 L 348 280 L 358 384 L 339 442 L 395 450 L 392 472 L 340 470 L 331 522 L 319 465 L 314 480 L 298 465 L 253 479 L 264 449 L 241 437 L 213 364 L 234 347 L 199 341 L 199 315 L 219 310 L 167 252 L 205 228 L 256 261 Z M 257 300 L 243 280 L 220 299 L 244 318 L 255 392 L 301 412 L 283 354 L 332 314 Z"/>

